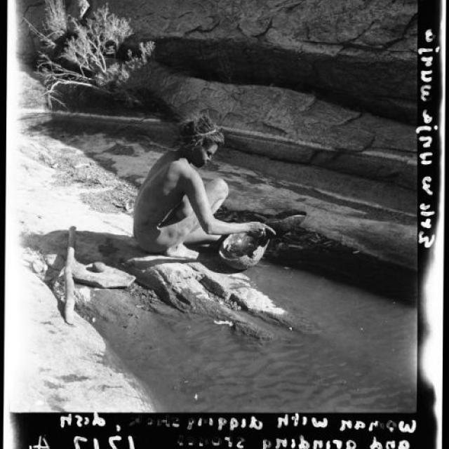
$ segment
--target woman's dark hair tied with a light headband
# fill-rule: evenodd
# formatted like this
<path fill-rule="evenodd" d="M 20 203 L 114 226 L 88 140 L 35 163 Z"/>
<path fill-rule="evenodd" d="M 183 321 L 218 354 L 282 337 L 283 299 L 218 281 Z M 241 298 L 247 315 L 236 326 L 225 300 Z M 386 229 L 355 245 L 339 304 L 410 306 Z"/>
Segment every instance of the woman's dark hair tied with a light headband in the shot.
<path fill-rule="evenodd" d="M 180 126 L 180 146 L 185 149 L 210 147 L 213 144 L 225 143 L 222 130 L 206 115 L 185 121 Z"/>

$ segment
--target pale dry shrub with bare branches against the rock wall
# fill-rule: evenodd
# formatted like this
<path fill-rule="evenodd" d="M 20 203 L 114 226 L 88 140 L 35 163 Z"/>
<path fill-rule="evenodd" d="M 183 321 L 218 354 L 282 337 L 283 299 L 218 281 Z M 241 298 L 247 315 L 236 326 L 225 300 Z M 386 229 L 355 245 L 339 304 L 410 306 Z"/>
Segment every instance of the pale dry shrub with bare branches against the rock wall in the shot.
<path fill-rule="evenodd" d="M 38 34 L 43 52 L 37 69 L 43 75 L 49 107 L 53 102 L 65 106 L 58 98 L 61 84 L 89 86 L 128 104 L 139 103 L 126 82 L 131 72 L 147 64 L 154 42 L 141 42 L 137 55 L 128 51 L 128 60 L 117 60 L 119 46 L 133 34 L 128 20 L 110 13 L 106 4 L 81 22 L 67 16 L 63 0 L 46 0 L 44 29 L 46 34 Z M 61 40 L 62 51 L 55 51 Z"/>

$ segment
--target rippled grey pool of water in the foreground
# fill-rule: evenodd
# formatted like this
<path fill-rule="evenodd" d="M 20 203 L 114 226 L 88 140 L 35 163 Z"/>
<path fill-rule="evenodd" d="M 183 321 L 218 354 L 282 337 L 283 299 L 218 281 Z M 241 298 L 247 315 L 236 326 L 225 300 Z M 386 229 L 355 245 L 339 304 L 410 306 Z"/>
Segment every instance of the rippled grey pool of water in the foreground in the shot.
<path fill-rule="evenodd" d="M 148 335 L 132 338 L 100 325 L 161 411 L 415 410 L 415 306 L 263 261 L 247 274 L 319 332 L 255 342 L 185 314 L 148 314 Z"/>

